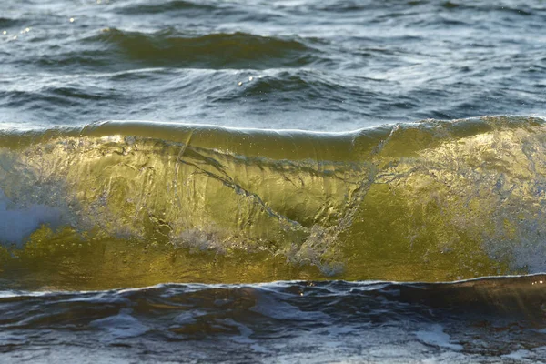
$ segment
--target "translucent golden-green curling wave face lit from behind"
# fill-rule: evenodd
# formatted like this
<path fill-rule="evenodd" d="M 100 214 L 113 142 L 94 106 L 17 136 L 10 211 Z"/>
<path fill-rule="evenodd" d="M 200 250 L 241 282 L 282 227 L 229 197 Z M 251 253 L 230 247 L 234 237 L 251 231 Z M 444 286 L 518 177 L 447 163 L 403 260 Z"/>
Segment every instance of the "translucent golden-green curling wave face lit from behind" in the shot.
<path fill-rule="evenodd" d="M 157 273 L 147 283 L 532 272 L 545 140 L 541 119 L 517 117 L 345 134 L 134 122 L 5 133 L 0 238 L 28 240 L 10 250 L 19 258 L 51 259 L 56 241 L 68 266 L 112 249 L 94 274 L 144 262 Z"/>

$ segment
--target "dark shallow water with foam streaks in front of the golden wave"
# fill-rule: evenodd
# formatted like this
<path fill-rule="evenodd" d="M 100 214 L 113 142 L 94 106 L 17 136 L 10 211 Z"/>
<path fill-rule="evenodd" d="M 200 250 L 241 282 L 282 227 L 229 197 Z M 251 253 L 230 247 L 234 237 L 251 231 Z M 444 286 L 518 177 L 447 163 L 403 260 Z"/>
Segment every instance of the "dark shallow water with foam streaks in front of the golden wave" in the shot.
<path fill-rule="evenodd" d="M 5 362 L 542 362 L 546 277 L 0 292 Z"/>

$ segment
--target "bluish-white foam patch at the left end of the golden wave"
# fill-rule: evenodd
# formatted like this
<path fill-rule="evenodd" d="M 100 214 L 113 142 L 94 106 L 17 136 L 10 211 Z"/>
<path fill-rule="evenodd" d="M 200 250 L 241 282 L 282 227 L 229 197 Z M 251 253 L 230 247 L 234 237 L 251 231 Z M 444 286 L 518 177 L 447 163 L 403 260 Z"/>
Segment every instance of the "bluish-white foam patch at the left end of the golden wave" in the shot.
<path fill-rule="evenodd" d="M 0 188 L 0 244 L 23 246 L 25 239 L 42 225 L 57 227 L 62 213 L 56 207 L 31 205 L 16 207 Z"/>

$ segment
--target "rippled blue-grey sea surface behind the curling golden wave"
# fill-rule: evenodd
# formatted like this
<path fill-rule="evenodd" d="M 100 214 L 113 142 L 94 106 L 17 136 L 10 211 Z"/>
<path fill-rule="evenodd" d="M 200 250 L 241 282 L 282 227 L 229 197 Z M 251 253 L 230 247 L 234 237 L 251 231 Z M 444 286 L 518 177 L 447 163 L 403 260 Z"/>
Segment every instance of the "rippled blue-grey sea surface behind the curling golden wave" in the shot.
<path fill-rule="evenodd" d="M 56 0 L 0 14 L 0 121 L 12 125 L 346 131 L 541 114 L 544 101 L 540 0 Z"/>

